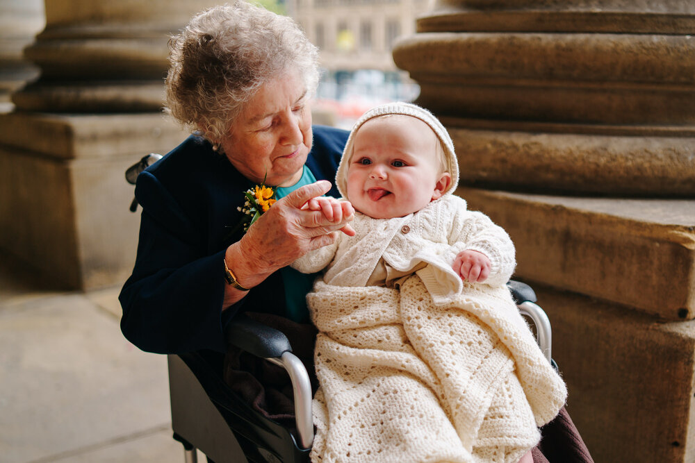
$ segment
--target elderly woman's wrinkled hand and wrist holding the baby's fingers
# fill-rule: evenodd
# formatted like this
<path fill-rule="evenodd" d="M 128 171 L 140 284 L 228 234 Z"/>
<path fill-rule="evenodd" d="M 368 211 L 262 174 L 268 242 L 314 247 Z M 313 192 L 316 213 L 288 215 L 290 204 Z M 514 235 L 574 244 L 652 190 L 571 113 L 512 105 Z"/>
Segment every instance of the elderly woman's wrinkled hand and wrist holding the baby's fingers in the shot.
<path fill-rule="evenodd" d="M 270 273 L 291 264 L 305 253 L 334 242 L 338 230 L 354 235 L 354 230 L 348 225 L 354 218 L 350 203 L 341 205 L 338 210 L 332 208 L 335 212 L 332 217 L 327 217 L 322 208 L 311 210 L 306 205 L 330 189 L 331 183 L 327 180 L 298 188 L 273 204 L 239 242 L 227 248 L 225 260 L 240 285 L 258 285 Z M 238 293 L 236 300 L 227 297 L 235 293 Z M 225 307 L 238 301 L 243 294 L 228 288 Z"/>

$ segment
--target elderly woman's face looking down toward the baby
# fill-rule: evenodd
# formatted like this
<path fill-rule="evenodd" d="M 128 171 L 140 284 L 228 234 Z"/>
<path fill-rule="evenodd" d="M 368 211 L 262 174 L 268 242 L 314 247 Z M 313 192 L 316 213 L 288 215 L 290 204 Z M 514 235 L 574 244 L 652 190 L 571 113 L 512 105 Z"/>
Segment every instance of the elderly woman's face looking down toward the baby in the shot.
<path fill-rule="evenodd" d="M 222 141 L 243 176 L 256 183 L 288 187 L 302 178 L 311 149 L 311 110 L 304 81 L 288 71 L 264 83 L 245 105 Z"/>

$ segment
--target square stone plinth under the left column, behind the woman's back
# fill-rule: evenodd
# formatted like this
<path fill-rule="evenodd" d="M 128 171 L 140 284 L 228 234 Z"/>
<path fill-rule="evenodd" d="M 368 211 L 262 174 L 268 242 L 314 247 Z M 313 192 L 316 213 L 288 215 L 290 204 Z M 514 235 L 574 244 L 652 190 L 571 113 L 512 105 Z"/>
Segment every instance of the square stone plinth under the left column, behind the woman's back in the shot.
<path fill-rule="evenodd" d="M 124 171 L 183 137 L 159 114 L 0 115 L 0 247 L 65 287 L 122 284 L 140 223 Z"/>

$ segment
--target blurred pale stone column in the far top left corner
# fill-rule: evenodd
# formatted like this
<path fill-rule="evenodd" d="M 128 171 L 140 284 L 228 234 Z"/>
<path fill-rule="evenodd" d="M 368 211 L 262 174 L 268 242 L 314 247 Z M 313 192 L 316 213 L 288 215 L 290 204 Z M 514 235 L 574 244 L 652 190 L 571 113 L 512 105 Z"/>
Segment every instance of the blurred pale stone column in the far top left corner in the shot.
<path fill-rule="evenodd" d="M 10 94 L 38 77 L 22 51 L 44 27 L 42 0 L 0 0 L 0 112 L 13 109 Z"/>

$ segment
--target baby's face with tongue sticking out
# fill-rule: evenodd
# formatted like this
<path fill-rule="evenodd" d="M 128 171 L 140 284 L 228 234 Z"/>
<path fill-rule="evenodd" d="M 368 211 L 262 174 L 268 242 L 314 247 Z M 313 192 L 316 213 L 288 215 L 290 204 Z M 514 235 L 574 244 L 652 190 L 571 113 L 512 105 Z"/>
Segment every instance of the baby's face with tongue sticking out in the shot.
<path fill-rule="evenodd" d="M 403 217 L 439 198 L 448 183 L 436 155 L 436 135 L 409 116 L 377 117 L 355 133 L 347 168 L 347 198 L 375 219 Z"/>

